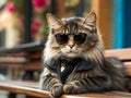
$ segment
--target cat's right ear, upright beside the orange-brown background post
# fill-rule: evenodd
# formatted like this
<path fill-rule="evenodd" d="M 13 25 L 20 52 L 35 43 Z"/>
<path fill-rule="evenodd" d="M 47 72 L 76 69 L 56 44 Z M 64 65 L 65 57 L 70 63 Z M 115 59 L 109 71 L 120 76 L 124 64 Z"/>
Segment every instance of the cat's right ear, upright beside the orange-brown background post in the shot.
<path fill-rule="evenodd" d="M 96 24 L 96 13 L 94 11 L 90 12 L 84 19 L 84 24 Z"/>

